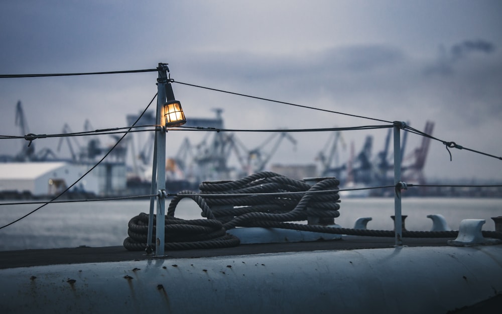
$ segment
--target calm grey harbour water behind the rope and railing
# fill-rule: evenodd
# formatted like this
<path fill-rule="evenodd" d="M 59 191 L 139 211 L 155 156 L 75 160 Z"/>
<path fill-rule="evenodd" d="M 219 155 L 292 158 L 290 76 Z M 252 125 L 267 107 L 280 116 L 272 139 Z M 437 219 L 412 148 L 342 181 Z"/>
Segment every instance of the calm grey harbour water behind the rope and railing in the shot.
<path fill-rule="evenodd" d="M 166 208 L 169 199 L 166 201 Z M 0 205 L 0 227 L 33 211 L 39 205 Z M 128 222 L 139 213 L 148 213 L 150 200 L 120 200 L 53 203 L 23 220 L 0 229 L 0 250 L 117 246 L 127 237 Z M 155 212 L 155 208 L 154 208 Z M 201 219 L 197 204 L 183 199 L 175 216 Z M 491 217 L 502 216 L 502 198 L 419 198 L 402 199 L 402 215 L 407 230 L 428 231 L 429 214 L 441 214 L 448 226 L 458 230 L 463 219 L 484 219 L 483 230 L 494 230 Z M 360 217 L 371 217 L 368 229 L 393 230 L 394 198 L 347 198 L 340 203 L 335 223 L 352 228 Z"/>

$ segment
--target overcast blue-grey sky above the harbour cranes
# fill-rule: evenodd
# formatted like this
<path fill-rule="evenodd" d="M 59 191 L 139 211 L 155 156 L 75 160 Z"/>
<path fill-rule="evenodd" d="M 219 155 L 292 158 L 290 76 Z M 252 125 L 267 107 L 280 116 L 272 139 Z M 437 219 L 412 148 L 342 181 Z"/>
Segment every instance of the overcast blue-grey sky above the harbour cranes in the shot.
<path fill-rule="evenodd" d="M 17 1 L 0 2 L 0 73 L 93 72 L 169 63 L 181 82 L 386 121 L 502 156 L 502 2 L 495 1 Z M 0 134 L 21 135 L 18 100 L 32 133 L 126 126 L 156 93 L 156 73 L 0 79 Z M 382 124 L 173 84 L 187 119 L 239 129 Z M 343 132 L 356 152 L 386 130 Z M 169 132 L 168 155 L 185 136 Z M 248 148 L 268 135 L 236 136 Z M 314 163 L 328 133 L 293 134 L 272 163 Z M 410 134 L 407 154 L 422 139 Z M 21 140 L 22 142 L 23 140 Z M 103 139 L 102 142 L 110 141 Z M 20 141 L 2 140 L 0 154 Z M 83 142 L 83 141 L 81 141 Z M 39 139 L 36 148 L 55 149 Z M 428 178 L 502 180 L 502 161 L 431 142 Z"/>

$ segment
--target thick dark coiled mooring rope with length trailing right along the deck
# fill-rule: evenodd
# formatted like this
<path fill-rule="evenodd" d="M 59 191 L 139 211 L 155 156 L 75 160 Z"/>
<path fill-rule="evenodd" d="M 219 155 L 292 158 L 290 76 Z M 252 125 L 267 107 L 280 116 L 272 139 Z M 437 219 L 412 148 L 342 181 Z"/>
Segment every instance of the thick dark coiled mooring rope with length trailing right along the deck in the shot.
<path fill-rule="evenodd" d="M 226 233 L 236 227 L 281 228 L 354 236 L 395 236 L 395 232 L 391 230 L 291 223 L 305 221 L 309 217 L 332 220 L 340 216 L 338 185 L 336 178 L 326 178 L 310 186 L 305 181 L 268 171 L 235 181 L 202 182 L 199 185 L 200 193 L 184 190 L 171 200 L 165 217 L 165 248 L 184 250 L 237 246 L 239 239 Z M 176 206 L 183 198 L 194 200 L 202 210 L 202 217 L 206 219 L 175 218 Z M 155 224 L 153 232 L 155 233 Z M 141 213 L 132 218 L 128 234 L 129 237 L 124 240 L 126 249 L 145 250 L 148 215 Z M 502 239 L 500 232 L 482 231 L 482 234 L 487 238 Z M 404 238 L 455 238 L 458 231 L 403 230 L 402 235 Z"/>

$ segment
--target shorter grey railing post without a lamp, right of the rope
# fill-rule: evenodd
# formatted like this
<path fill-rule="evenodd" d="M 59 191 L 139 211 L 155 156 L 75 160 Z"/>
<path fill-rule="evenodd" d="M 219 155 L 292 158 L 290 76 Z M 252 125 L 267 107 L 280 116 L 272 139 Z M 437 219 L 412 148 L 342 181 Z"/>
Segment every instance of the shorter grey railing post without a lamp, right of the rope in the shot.
<path fill-rule="evenodd" d="M 401 123 L 394 123 L 394 185 L 401 182 Z M 403 221 L 401 219 L 401 189 L 396 188 L 394 195 L 394 229 L 396 246 L 403 245 Z"/>

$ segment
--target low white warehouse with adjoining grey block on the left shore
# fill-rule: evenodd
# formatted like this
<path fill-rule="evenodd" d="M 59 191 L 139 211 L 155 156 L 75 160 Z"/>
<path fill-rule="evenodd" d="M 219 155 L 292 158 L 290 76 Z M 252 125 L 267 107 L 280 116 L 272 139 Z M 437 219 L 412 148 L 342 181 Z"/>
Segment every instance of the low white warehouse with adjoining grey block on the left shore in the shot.
<path fill-rule="evenodd" d="M 80 178 L 91 165 L 68 162 L 0 163 L 0 192 L 29 191 L 33 195 L 54 195 Z M 121 164 L 100 164 L 70 191 L 96 195 L 111 194 L 126 187 L 126 170 Z"/>

